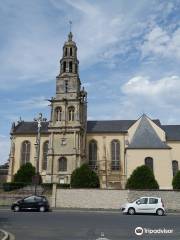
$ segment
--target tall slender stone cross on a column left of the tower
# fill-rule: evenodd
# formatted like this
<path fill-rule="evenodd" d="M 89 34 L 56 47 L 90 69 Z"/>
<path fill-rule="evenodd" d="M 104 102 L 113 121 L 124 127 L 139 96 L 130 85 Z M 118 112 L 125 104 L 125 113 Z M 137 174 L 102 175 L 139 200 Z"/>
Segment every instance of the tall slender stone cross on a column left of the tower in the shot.
<path fill-rule="evenodd" d="M 40 158 L 40 140 L 41 140 L 41 123 L 46 122 L 46 118 L 42 117 L 42 113 L 39 113 L 39 116 L 37 118 L 34 118 L 34 121 L 38 124 L 38 134 L 36 138 L 35 143 L 35 149 L 36 149 L 36 175 L 35 175 L 35 195 L 37 192 L 37 185 L 39 184 L 39 158 Z"/>

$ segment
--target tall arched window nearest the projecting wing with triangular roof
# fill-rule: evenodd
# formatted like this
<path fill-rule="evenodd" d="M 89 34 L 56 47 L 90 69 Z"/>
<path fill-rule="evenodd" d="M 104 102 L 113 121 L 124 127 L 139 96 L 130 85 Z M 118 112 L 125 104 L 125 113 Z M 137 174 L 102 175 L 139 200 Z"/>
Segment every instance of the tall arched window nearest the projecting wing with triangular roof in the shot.
<path fill-rule="evenodd" d="M 120 169 L 120 143 L 118 140 L 111 142 L 111 169 Z"/>

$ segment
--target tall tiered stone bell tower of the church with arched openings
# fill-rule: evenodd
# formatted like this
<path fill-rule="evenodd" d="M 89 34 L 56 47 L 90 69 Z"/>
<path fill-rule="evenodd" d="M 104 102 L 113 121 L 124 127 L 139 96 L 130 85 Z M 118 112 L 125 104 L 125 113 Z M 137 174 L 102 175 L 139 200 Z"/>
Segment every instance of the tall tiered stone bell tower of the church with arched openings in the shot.
<path fill-rule="evenodd" d="M 85 161 L 87 93 L 81 88 L 77 46 L 72 32 L 63 46 L 56 96 L 51 102 L 47 182 L 69 183 Z"/>

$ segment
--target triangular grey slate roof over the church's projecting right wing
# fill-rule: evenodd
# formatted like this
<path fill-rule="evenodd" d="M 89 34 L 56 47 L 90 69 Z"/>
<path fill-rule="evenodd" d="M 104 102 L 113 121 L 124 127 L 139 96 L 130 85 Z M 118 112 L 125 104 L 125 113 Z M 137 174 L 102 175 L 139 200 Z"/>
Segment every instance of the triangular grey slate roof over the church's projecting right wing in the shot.
<path fill-rule="evenodd" d="M 161 141 L 147 117 L 143 115 L 128 148 L 169 149 L 170 147 Z"/>

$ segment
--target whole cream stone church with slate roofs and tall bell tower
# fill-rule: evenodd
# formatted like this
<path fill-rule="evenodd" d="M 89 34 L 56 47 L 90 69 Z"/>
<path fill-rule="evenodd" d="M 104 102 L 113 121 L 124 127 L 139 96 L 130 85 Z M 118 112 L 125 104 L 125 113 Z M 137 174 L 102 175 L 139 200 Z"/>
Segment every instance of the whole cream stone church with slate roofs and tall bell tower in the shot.
<path fill-rule="evenodd" d="M 172 189 L 180 164 L 180 125 L 162 125 L 145 114 L 135 120 L 88 121 L 87 92 L 81 87 L 71 32 L 63 46 L 56 95 L 49 101 L 50 120 L 42 119 L 39 153 L 38 123 L 12 124 L 8 181 L 31 162 L 44 183 L 70 183 L 73 170 L 88 163 L 101 188 L 124 189 L 133 170 L 145 164 L 160 189 Z"/>

